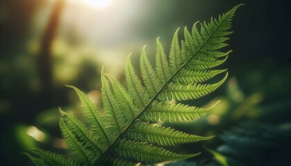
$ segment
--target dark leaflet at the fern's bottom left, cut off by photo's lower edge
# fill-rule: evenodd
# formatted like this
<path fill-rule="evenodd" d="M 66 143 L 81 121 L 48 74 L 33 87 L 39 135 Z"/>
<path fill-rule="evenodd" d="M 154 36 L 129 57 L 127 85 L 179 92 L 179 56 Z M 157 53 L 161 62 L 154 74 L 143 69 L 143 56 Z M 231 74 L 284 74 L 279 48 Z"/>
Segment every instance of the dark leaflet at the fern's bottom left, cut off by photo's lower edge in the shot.
<path fill-rule="evenodd" d="M 51 151 L 44 151 L 42 149 L 31 149 L 24 153 L 30 160 L 39 166 L 67 166 L 67 165 L 80 165 L 74 160 L 62 156 L 60 154 L 52 153 Z"/>

